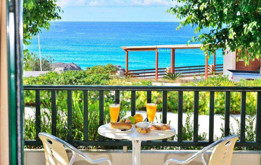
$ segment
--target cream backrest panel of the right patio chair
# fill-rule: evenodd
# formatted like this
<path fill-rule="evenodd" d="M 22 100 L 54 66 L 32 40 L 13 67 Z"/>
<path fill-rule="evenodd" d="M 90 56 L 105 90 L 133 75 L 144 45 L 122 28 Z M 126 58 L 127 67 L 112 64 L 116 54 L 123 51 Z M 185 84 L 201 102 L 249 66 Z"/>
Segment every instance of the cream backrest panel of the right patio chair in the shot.
<path fill-rule="evenodd" d="M 216 145 L 210 156 L 208 165 L 230 165 L 234 145 L 237 139 L 238 136 L 234 136 Z"/>

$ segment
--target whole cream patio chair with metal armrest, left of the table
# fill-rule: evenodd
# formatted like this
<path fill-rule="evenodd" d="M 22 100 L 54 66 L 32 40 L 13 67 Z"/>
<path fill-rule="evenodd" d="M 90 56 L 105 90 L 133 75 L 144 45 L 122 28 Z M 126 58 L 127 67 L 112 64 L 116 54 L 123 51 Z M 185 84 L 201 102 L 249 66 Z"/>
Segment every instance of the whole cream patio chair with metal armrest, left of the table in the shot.
<path fill-rule="evenodd" d="M 71 165 L 75 159 L 75 154 L 80 155 L 91 164 L 107 162 L 109 165 L 112 165 L 112 162 L 107 158 L 92 160 L 72 145 L 48 133 L 40 132 L 38 136 L 43 142 L 46 165 Z M 72 152 L 70 162 L 66 149 L 69 149 Z"/>

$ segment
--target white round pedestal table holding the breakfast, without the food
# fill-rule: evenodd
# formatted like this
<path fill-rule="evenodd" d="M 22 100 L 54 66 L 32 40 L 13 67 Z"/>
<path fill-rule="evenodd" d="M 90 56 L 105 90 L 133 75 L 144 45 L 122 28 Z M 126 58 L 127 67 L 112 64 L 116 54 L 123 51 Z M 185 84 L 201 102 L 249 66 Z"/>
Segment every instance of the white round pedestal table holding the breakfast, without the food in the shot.
<path fill-rule="evenodd" d="M 141 134 L 136 131 L 137 128 L 133 127 L 134 130 L 128 132 L 116 132 L 108 129 L 109 124 L 104 124 L 98 128 L 98 133 L 102 136 L 112 139 L 127 139 L 132 142 L 132 165 L 140 165 L 140 145 L 142 140 L 158 140 L 165 139 L 176 134 L 176 130 L 164 131 L 164 132 L 153 132 Z"/>

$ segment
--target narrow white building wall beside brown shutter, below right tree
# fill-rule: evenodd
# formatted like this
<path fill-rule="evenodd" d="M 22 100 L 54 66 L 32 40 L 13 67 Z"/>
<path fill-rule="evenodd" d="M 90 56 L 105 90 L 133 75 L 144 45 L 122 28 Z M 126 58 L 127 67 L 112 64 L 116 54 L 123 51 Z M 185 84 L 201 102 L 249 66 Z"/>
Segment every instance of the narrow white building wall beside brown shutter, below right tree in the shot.
<path fill-rule="evenodd" d="M 227 69 L 236 69 L 236 51 L 231 52 L 230 48 L 227 47 L 225 55 L 223 56 L 223 74 L 226 74 Z"/>

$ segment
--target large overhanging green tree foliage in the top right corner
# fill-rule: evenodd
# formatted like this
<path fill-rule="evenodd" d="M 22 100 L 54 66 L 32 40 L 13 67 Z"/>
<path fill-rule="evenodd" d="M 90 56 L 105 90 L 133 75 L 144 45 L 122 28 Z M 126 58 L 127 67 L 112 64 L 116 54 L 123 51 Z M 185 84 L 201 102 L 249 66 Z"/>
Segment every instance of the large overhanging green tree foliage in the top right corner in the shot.
<path fill-rule="evenodd" d="M 222 48 L 239 50 L 238 59 L 260 57 L 261 51 L 261 3 L 260 0 L 176 0 L 178 4 L 167 12 L 185 19 L 177 28 L 192 25 L 195 33 L 209 28 L 208 33 L 193 37 L 191 42 L 201 42 L 208 56 Z M 241 51 L 246 50 L 246 51 Z M 224 54 L 224 51 L 223 51 Z"/>

